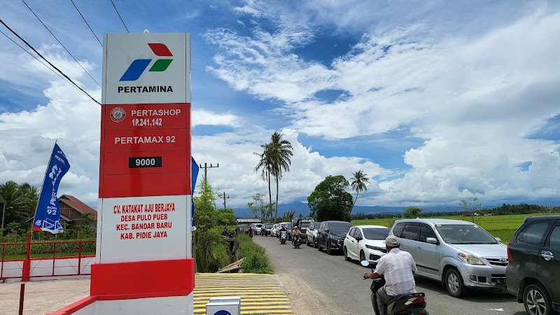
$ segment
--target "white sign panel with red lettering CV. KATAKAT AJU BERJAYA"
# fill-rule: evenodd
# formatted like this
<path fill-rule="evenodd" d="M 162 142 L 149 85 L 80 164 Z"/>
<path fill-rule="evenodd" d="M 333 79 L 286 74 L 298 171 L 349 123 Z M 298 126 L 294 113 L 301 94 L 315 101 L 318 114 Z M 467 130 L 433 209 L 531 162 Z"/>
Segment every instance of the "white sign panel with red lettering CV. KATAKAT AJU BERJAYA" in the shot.
<path fill-rule="evenodd" d="M 190 195 L 104 198 L 97 262 L 189 258 L 187 205 Z"/>

